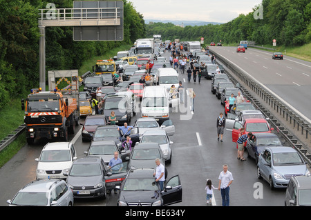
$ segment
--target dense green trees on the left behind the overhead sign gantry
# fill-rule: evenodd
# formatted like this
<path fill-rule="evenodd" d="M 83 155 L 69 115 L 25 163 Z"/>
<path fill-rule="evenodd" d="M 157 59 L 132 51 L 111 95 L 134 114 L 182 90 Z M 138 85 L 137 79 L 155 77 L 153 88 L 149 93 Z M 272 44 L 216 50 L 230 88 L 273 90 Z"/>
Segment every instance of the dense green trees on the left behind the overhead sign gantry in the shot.
<path fill-rule="evenodd" d="M 46 28 L 46 71 L 79 69 L 82 61 L 144 37 L 144 19 L 124 1 L 123 41 L 73 41 L 73 28 Z M 0 0 L 0 109 L 12 97 L 39 86 L 39 9 L 50 1 Z M 55 0 L 73 8 L 73 0 Z M 91 69 L 91 67 L 90 67 Z"/>

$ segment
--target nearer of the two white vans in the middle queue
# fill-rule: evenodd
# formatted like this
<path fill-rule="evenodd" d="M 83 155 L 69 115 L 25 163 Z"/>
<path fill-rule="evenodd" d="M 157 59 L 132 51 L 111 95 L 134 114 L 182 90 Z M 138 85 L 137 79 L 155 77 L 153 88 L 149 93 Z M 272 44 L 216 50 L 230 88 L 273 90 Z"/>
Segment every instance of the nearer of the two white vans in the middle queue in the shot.
<path fill-rule="evenodd" d="M 164 88 L 160 86 L 147 86 L 144 88 L 141 103 L 142 117 L 152 117 L 162 124 L 169 119 L 169 97 Z"/>

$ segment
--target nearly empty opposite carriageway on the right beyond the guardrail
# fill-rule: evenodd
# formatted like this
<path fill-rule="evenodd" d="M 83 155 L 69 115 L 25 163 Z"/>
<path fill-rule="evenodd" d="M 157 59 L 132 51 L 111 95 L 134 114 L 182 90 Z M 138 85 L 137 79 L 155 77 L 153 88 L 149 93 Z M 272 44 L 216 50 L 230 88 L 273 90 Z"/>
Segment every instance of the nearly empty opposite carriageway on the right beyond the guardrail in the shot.
<path fill-rule="evenodd" d="M 272 52 L 248 48 L 236 52 L 235 47 L 210 47 L 245 70 L 249 75 L 276 94 L 283 103 L 311 122 L 311 63 L 284 55 L 272 59 Z"/>

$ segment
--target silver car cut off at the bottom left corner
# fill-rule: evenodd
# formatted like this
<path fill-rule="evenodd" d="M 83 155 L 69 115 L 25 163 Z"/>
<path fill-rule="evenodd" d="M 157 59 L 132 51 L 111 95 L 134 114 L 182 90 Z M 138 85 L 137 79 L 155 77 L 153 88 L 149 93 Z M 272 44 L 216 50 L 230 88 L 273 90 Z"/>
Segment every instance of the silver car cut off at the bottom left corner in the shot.
<path fill-rule="evenodd" d="M 32 181 L 21 188 L 10 206 L 73 206 L 73 191 L 61 179 Z"/>

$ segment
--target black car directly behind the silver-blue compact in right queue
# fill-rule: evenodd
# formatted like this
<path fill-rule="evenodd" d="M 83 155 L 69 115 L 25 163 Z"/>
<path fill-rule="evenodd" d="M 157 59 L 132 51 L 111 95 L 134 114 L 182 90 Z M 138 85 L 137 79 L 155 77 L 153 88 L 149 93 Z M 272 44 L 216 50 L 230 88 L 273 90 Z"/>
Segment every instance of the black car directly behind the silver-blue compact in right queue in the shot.
<path fill-rule="evenodd" d="M 279 137 L 273 133 L 257 133 L 254 134 L 254 137 L 254 141 L 247 141 L 245 154 L 247 157 L 255 159 L 256 165 L 258 163 L 259 154 L 261 154 L 265 148 L 282 146 Z"/>

